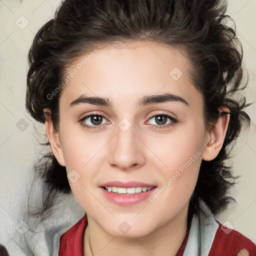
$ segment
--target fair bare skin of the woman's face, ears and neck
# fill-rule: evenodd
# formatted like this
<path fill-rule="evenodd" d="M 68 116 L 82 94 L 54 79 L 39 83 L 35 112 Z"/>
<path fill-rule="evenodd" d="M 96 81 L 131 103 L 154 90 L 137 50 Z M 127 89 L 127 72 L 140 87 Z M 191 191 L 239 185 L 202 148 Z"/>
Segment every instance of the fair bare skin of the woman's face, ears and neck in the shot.
<path fill-rule="evenodd" d="M 53 154 L 67 173 L 74 169 L 80 175 L 69 184 L 87 214 L 84 255 L 175 255 L 186 233 L 189 198 L 201 159 L 218 154 L 229 115 L 219 115 L 206 129 L 202 96 L 190 78 L 190 62 L 179 49 L 132 42 L 98 50 L 61 91 L 58 131 L 53 129 L 50 110 L 44 109 Z M 72 63 L 67 74 L 86 55 Z M 169 75 L 174 67 L 183 73 L 178 80 Z M 189 105 L 168 101 L 137 106 L 141 96 L 167 92 Z M 69 106 L 81 95 L 108 98 L 113 106 Z M 95 129 L 86 129 L 78 119 L 92 112 L 104 118 Z M 171 119 L 161 125 L 155 117 L 149 118 L 163 113 L 178 122 L 164 128 Z M 126 131 L 118 126 L 123 118 L 131 125 Z M 84 122 L 96 126 L 90 118 Z M 136 180 L 161 188 L 196 152 L 198 158 L 153 202 L 120 206 L 101 193 L 99 185 L 111 180 Z M 131 227 L 125 234 L 118 228 L 123 221 Z"/>

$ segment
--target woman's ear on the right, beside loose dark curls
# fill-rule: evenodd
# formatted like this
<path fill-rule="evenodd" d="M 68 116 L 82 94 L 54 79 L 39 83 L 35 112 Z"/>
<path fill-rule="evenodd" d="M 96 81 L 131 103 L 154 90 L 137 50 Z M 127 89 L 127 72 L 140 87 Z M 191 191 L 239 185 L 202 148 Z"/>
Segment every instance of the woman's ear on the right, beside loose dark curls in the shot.
<path fill-rule="evenodd" d="M 215 124 L 211 125 L 207 136 L 207 144 L 202 152 L 202 159 L 205 161 L 210 161 L 217 156 L 223 145 L 227 131 L 230 118 L 229 109 L 227 107 L 221 107 L 218 111 L 218 120 Z"/>

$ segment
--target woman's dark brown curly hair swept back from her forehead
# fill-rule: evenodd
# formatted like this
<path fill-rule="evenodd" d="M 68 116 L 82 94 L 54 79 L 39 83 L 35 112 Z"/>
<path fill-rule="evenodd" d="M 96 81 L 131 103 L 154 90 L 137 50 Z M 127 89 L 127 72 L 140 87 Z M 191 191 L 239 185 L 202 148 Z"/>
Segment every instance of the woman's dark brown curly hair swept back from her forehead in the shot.
<path fill-rule="evenodd" d="M 215 159 L 202 160 L 190 198 L 195 209 L 201 198 L 213 214 L 221 212 L 234 200 L 227 195 L 235 184 L 231 167 L 225 165 L 228 146 L 231 148 L 242 125 L 250 124 L 250 117 L 243 111 L 249 104 L 238 93 L 248 81 L 243 79 L 247 72 L 242 68 L 242 46 L 235 27 L 224 25 L 230 19 L 226 8 L 226 2 L 219 0 L 62 1 L 54 18 L 36 33 L 29 50 L 26 109 L 36 121 L 44 123 L 43 109 L 49 108 L 53 127 L 58 130 L 61 91 L 52 98 L 47 95 L 63 81 L 69 64 L 95 47 L 129 41 L 181 47 L 192 63 L 191 76 L 203 98 L 205 126 L 216 122 L 219 107 L 230 110 L 223 146 Z M 65 167 L 52 153 L 43 159 L 43 164 L 37 162 L 35 171 L 49 195 L 54 191 L 70 193 Z M 49 207 L 48 202 L 41 212 Z"/>

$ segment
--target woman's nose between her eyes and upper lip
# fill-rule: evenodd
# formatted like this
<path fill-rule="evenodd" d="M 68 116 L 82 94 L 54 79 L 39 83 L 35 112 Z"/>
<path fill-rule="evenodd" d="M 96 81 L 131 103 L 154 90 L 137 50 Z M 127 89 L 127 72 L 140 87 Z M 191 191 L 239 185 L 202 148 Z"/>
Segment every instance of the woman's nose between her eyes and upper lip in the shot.
<path fill-rule="evenodd" d="M 121 170 L 138 168 L 145 162 L 145 145 L 139 139 L 139 133 L 135 134 L 132 125 L 127 130 L 120 127 L 117 127 L 112 138 L 109 163 Z"/>

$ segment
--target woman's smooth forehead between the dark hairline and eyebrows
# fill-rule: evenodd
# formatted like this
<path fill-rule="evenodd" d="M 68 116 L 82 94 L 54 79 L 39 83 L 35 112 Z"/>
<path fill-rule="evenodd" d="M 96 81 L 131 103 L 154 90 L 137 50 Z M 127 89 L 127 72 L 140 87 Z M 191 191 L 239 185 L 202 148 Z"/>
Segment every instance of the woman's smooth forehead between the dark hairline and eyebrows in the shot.
<path fill-rule="evenodd" d="M 81 95 L 93 95 L 107 97 L 114 106 L 117 97 L 137 102 L 142 95 L 167 92 L 202 103 L 191 68 L 182 49 L 163 44 L 139 41 L 99 47 L 70 64 L 66 76 L 72 78 L 60 101 L 68 104 Z"/>

